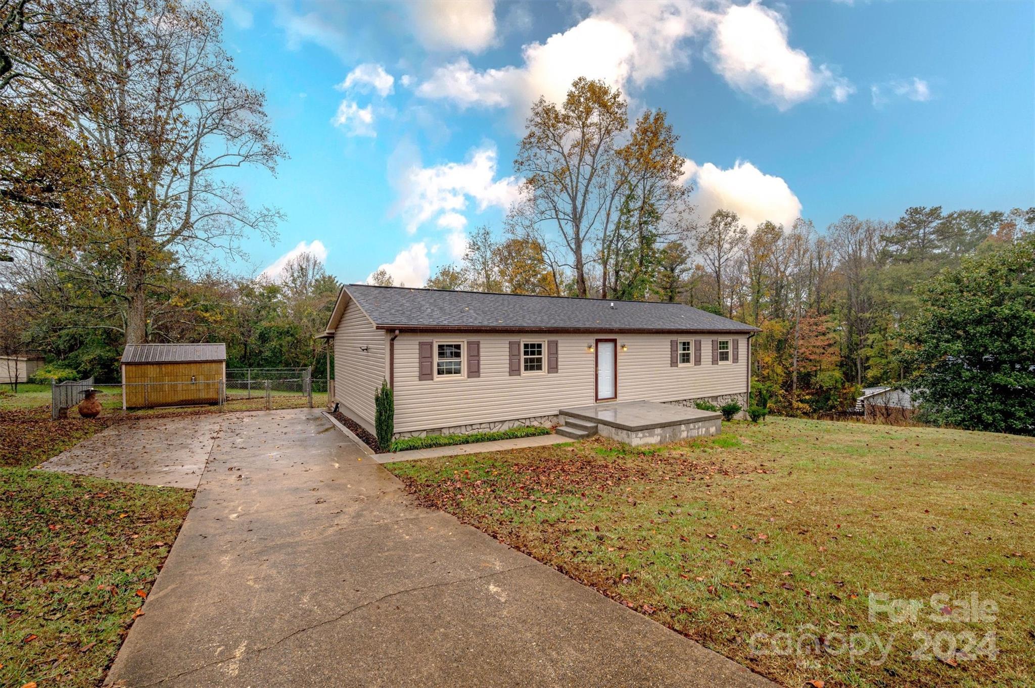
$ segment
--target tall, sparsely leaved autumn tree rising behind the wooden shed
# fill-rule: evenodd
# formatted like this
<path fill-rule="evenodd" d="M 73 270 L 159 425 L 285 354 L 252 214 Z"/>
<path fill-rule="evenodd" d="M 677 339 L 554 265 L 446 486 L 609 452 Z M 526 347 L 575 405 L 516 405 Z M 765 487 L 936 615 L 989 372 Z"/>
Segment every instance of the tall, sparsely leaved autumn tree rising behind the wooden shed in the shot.
<path fill-rule="evenodd" d="M 68 122 L 103 198 L 81 245 L 105 266 L 94 276 L 115 287 L 136 343 L 149 336 L 149 291 L 177 260 L 232 257 L 248 230 L 272 234 L 278 211 L 252 208 L 229 177 L 274 171 L 285 154 L 264 94 L 236 80 L 217 11 L 177 0 L 97 0 L 85 11 L 77 67 L 29 97 Z"/>

